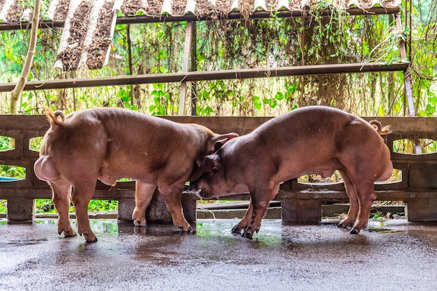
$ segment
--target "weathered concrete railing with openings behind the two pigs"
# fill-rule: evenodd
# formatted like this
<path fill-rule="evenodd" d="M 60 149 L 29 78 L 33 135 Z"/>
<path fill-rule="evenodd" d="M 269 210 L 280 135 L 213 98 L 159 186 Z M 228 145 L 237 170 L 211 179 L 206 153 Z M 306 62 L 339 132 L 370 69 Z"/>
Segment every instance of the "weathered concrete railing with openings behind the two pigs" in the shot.
<path fill-rule="evenodd" d="M 269 118 L 252 117 L 165 117 L 179 123 L 199 123 L 217 133 L 247 134 Z M 378 119 L 383 125 L 392 125 L 387 145 L 393 148 L 398 139 L 437 140 L 437 118 L 365 118 Z M 8 220 L 31 221 L 35 217 L 34 199 L 51 198 L 46 182 L 36 178 L 34 162 L 38 152 L 30 150 L 32 138 L 43 136 L 49 128 L 45 116 L 0 116 L 0 136 L 15 139 L 13 150 L 0 152 L 1 165 L 26 168 L 23 180 L 0 180 L 0 199 L 8 200 Z M 313 149 L 317 150 L 317 149 Z M 437 153 L 406 155 L 392 152 L 394 168 L 401 170 L 401 181 L 375 185 L 378 200 L 403 200 L 409 221 L 437 221 Z M 119 200 L 119 219 L 130 220 L 135 205 L 135 182 L 117 182 L 108 187 L 98 182 L 93 199 Z M 230 196 L 227 200 L 247 200 L 247 194 Z M 184 194 L 182 205 L 188 221 L 195 220 L 195 196 Z M 348 201 L 342 183 L 302 184 L 293 179 L 281 184 L 275 200 L 281 201 L 282 219 L 290 222 L 320 221 L 321 207 L 325 202 Z M 161 201 L 161 202 L 160 202 Z M 162 211 L 162 198 L 156 194 L 149 207 L 149 220 L 170 221 L 168 212 Z M 159 210 L 159 211 L 157 211 Z"/>

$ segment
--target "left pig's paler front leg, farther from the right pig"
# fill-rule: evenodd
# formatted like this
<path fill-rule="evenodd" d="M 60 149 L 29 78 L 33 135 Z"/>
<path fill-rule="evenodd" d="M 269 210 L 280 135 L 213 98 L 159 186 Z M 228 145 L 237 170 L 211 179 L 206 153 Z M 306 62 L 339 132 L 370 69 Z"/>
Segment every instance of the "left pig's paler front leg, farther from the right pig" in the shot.
<path fill-rule="evenodd" d="M 154 196 L 156 186 L 140 181 L 135 182 L 135 209 L 132 213 L 135 226 L 147 226 L 146 210 Z"/>

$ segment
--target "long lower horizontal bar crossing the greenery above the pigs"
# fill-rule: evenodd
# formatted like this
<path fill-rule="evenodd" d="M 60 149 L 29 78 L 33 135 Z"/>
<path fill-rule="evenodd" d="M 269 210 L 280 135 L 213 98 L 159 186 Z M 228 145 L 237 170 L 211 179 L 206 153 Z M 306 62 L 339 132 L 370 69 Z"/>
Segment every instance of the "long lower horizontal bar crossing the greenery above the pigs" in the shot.
<path fill-rule="evenodd" d="M 61 88 L 81 88 L 99 86 L 123 86 L 131 84 L 174 83 L 182 81 L 208 81 L 218 79 L 252 79 L 264 77 L 287 77 L 310 74 L 343 74 L 360 72 L 403 71 L 409 63 L 350 63 L 341 65 L 299 65 L 283 68 L 258 68 L 240 70 L 221 70 L 209 72 L 178 72 L 169 74 L 138 74 L 103 78 L 62 79 L 47 81 L 29 81 L 24 91 L 49 90 Z M 0 92 L 11 91 L 15 83 L 0 84 Z"/>

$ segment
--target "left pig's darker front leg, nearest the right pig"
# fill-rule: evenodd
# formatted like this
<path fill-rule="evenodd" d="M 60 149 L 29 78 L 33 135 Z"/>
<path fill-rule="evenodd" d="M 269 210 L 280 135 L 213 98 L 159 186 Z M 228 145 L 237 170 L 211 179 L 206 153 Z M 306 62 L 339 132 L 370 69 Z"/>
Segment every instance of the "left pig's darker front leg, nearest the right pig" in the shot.
<path fill-rule="evenodd" d="M 184 187 L 185 183 L 182 183 L 182 186 L 160 186 L 158 189 L 165 200 L 165 204 L 167 205 L 170 214 L 172 214 L 172 220 L 175 226 L 182 231 L 192 232 L 193 228 L 191 228 L 190 223 L 186 221 L 182 210 L 181 200 Z"/>

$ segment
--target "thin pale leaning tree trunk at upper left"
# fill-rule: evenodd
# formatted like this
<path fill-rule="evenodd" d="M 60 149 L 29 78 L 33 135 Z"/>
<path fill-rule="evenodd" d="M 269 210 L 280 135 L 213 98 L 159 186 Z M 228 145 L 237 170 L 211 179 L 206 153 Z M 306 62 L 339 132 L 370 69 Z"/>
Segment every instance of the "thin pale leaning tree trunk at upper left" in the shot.
<path fill-rule="evenodd" d="M 10 93 L 10 113 L 17 114 L 17 103 L 20 97 L 24 84 L 26 84 L 27 76 L 34 61 L 36 39 L 38 37 L 38 26 L 40 21 L 41 1 L 35 0 L 34 17 L 32 19 L 32 29 L 29 40 L 29 50 L 27 51 L 26 60 L 24 61 L 23 69 L 21 71 L 20 79 L 18 79 L 15 88 Z"/>

